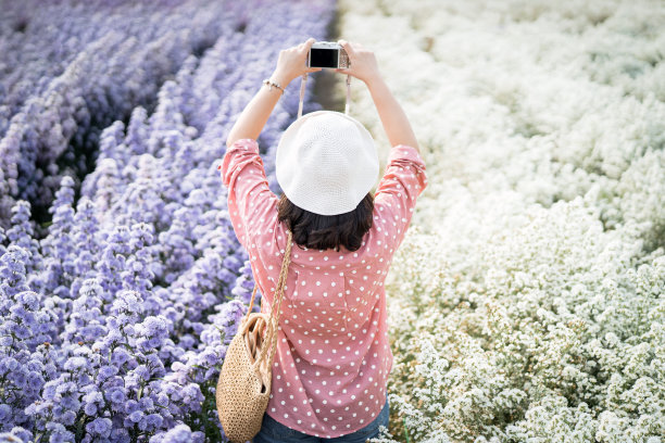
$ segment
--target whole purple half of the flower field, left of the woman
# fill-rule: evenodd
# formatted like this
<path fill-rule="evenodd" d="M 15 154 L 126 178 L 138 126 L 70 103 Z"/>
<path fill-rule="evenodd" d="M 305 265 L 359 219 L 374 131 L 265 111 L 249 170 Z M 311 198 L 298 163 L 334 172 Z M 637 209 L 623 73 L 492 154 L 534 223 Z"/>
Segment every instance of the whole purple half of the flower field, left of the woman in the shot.
<path fill-rule="evenodd" d="M 324 39 L 334 5 L 106 3 L 1 18 L 0 441 L 225 441 L 214 388 L 253 281 L 216 164 L 279 50 Z"/>

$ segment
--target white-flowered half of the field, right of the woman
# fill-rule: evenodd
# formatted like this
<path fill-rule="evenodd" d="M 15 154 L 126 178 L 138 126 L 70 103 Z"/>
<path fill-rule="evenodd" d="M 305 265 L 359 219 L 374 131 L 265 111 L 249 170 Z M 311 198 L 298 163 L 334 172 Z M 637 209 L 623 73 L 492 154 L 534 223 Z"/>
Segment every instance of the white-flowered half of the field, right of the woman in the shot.
<path fill-rule="evenodd" d="M 665 5 L 339 8 L 430 180 L 387 286 L 382 441 L 662 442 Z"/>

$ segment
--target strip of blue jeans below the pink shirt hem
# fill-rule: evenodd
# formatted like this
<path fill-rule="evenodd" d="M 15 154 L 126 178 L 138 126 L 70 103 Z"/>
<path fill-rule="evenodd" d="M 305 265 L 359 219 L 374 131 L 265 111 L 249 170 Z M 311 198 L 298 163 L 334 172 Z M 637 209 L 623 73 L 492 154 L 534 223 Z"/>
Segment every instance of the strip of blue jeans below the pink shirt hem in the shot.
<path fill-rule="evenodd" d="M 390 406 L 388 405 L 388 396 L 386 396 L 386 405 L 377 415 L 374 420 L 366 427 L 359 429 L 347 435 L 336 436 L 335 439 L 322 439 L 318 436 L 310 435 L 289 427 L 281 425 L 267 414 L 263 415 L 263 422 L 261 430 L 252 440 L 253 443 L 319 443 L 319 442 L 331 442 L 331 443 L 365 443 L 367 439 L 375 439 L 378 436 L 380 425 L 388 428 L 388 419 L 390 415 Z"/>

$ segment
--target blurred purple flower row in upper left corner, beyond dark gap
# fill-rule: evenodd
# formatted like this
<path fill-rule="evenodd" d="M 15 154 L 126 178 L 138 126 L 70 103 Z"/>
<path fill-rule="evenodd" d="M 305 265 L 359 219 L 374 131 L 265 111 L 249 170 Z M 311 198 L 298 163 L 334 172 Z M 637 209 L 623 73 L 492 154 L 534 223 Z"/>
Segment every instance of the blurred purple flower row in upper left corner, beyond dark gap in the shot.
<path fill-rule="evenodd" d="M 90 172 L 101 129 L 128 118 L 136 105 L 152 105 L 189 54 L 242 26 L 248 7 L 208 0 L 5 2 L 0 226 L 9 228 L 17 200 L 29 201 L 33 215 L 43 219 L 62 177 L 78 180 Z"/>

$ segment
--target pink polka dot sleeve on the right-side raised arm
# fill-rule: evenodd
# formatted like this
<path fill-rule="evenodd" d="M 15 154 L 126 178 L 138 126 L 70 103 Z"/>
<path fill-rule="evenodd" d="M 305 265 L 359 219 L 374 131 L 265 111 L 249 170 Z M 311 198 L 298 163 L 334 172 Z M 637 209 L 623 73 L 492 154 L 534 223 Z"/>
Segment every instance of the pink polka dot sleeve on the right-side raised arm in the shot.
<path fill-rule="evenodd" d="M 418 151 L 406 144 L 393 147 L 374 194 L 375 212 L 393 231 L 392 248 L 402 243 L 416 199 L 426 187 L 425 162 Z"/>

